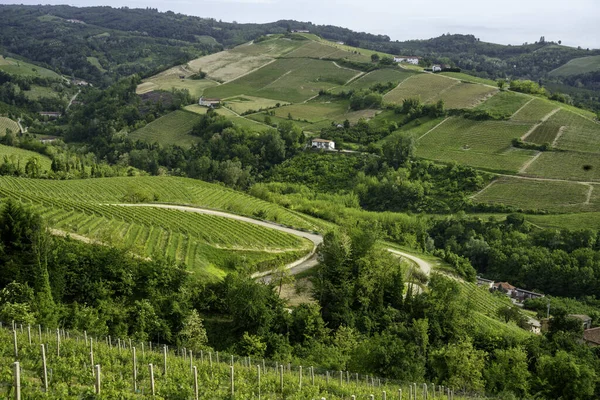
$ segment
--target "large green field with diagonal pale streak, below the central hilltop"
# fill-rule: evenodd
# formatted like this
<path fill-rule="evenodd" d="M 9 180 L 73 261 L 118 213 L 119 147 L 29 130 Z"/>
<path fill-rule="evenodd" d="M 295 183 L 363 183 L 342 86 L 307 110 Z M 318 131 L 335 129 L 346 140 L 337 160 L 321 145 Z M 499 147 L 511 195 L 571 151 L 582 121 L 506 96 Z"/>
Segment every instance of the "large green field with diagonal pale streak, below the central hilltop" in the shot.
<path fill-rule="evenodd" d="M 249 95 L 297 103 L 318 95 L 320 89 L 341 86 L 358 73 L 331 61 L 279 59 L 231 83 L 208 88 L 205 95 Z"/>

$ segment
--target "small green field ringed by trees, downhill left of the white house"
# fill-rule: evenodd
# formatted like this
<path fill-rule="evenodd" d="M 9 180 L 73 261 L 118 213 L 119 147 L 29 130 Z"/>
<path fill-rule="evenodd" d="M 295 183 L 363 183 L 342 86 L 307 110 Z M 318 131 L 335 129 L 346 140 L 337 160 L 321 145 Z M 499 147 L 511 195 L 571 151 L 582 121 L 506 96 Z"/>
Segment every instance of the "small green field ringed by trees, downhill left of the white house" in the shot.
<path fill-rule="evenodd" d="M 198 138 L 190 135 L 200 116 L 187 111 L 173 111 L 148 125 L 129 134 L 132 140 L 142 140 L 148 143 L 158 142 L 160 145 L 189 147 L 198 142 Z"/>

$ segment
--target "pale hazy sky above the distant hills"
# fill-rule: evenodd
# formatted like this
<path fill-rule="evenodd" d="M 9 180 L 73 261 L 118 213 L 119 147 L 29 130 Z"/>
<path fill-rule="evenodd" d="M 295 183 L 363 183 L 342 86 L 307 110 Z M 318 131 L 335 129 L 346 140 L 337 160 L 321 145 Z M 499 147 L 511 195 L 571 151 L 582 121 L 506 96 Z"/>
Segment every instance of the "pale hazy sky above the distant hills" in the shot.
<path fill-rule="evenodd" d="M 39 0 L 0 0 L 39 4 Z M 344 26 L 385 34 L 392 40 L 428 39 L 442 33 L 472 33 L 483 41 L 522 44 L 562 40 L 600 48 L 599 0 L 70 0 L 44 4 L 152 7 L 223 21 L 279 19 Z"/>

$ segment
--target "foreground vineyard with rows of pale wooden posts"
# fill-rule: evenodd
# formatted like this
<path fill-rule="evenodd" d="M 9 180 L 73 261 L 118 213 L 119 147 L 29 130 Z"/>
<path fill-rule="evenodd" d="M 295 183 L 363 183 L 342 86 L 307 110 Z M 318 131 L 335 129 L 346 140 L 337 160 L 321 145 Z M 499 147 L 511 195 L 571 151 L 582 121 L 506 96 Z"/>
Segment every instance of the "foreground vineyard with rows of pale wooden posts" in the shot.
<path fill-rule="evenodd" d="M 466 398 L 432 383 L 402 384 L 210 349 L 171 349 L 21 324 L 0 329 L 0 393 L 61 400 Z"/>

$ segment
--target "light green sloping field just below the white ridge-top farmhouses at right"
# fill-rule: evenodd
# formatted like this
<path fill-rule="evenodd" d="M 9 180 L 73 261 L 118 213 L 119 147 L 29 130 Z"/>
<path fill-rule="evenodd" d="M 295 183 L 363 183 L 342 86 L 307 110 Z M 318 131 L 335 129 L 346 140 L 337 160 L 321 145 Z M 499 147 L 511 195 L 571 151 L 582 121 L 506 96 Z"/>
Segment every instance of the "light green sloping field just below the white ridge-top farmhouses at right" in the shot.
<path fill-rule="evenodd" d="M 460 82 L 434 74 L 416 74 L 406 79 L 394 90 L 388 92 L 383 99 L 388 103 L 402 103 L 408 98 L 419 98 L 424 103 L 432 101 L 444 90 L 448 90 Z"/>

